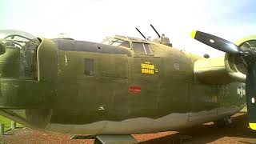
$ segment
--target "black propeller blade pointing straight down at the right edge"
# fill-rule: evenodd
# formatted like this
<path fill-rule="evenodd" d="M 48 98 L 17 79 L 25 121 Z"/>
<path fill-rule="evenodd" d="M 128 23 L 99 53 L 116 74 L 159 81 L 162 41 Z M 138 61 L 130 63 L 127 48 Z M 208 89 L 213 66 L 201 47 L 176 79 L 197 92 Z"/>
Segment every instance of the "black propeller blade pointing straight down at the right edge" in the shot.
<path fill-rule="evenodd" d="M 256 130 L 256 63 L 248 68 L 246 75 L 246 104 L 249 126 Z"/>

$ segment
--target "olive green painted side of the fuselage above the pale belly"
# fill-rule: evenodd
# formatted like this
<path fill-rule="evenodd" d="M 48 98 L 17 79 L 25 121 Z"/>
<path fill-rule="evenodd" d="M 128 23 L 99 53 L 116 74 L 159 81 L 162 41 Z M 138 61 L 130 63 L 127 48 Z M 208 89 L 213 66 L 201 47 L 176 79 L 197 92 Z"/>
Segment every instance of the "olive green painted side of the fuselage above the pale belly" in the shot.
<path fill-rule="evenodd" d="M 63 41 L 76 44 L 73 40 Z M 20 78 L 19 51 L 6 49 L 0 56 L 1 114 L 25 126 L 48 130 L 50 124 L 86 126 L 102 121 L 158 119 L 169 114 L 187 114 L 187 122 L 200 116 L 208 118 L 209 114 L 209 119 L 202 122 L 214 121 L 231 114 L 221 114 L 219 110 L 245 103 L 237 93 L 241 82 L 201 82 L 194 75 L 194 62 L 203 58 L 194 54 L 156 42 L 147 42 L 152 50 L 148 55 L 135 54 L 133 49 L 122 46 L 108 46 L 113 51 L 107 54 L 102 44 L 80 43 L 91 46 L 91 51 L 72 47 L 61 50 L 56 42 L 41 38 L 36 52 L 37 69 L 30 78 Z M 114 54 L 115 50 L 121 51 Z M 94 74 L 90 76 L 85 74 L 86 58 L 94 62 Z M 141 64 L 145 62 L 154 65 L 154 74 L 142 74 Z M 131 92 L 130 86 L 139 86 L 141 91 Z M 200 115 L 202 111 L 210 113 Z M 50 130 L 71 133 L 62 127 Z M 133 132 L 161 130 L 166 129 L 138 127 Z M 75 133 L 97 130 L 92 131 Z"/>

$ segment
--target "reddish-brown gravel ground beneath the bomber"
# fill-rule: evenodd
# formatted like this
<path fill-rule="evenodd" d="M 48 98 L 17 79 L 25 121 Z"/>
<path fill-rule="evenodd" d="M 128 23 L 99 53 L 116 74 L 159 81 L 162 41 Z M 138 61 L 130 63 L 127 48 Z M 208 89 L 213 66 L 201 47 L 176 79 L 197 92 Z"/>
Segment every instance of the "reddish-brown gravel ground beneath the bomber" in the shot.
<path fill-rule="evenodd" d="M 234 116 L 234 123 L 226 128 L 216 128 L 212 122 L 201 126 L 190 127 L 179 131 L 166 131 L 156 134 L 134 134 L 140 144 L 166 144 L 181 143 L 176 139 L 182 135 L 192 138 L 183 143 L 256 143 L 256 131 L 248 128 L 246 114 L 238 113 Z M 0 136 L 0 143 L 86 143 L 92 144 L 94 140 L 70 140 L 70 135 L 50 134 L 29 128 L 20 128 L 9 131 Z"/>

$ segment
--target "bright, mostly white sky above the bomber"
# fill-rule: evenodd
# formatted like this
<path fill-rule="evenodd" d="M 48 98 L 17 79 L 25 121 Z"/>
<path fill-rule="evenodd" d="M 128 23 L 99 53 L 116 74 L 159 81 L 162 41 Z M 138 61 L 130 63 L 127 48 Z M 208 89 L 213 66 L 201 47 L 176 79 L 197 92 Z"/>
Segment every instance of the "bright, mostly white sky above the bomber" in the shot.
<path fill-rule="evenodd" d="M 152 23 L 174 46 L 196 54 L 222 55 L 190 38 L 197 29 L 230 41 L 256 34 L 253 0 L 2 0 L 0 29 L 23 30 L 40 37 L 60 33 L 100 42 L 114 34 L 156 37 Z"/>

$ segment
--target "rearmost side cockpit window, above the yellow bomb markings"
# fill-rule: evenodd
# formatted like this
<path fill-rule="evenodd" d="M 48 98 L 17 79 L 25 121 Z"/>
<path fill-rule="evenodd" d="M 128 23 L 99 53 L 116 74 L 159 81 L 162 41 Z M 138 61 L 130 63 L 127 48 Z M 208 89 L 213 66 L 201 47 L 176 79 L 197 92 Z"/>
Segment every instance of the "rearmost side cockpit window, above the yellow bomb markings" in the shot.
<path fill-rule="evenodd" d="M 135 54 L 152 54 L 148 43 L 133 42 L 133 48 Z"/>

